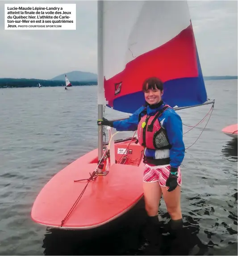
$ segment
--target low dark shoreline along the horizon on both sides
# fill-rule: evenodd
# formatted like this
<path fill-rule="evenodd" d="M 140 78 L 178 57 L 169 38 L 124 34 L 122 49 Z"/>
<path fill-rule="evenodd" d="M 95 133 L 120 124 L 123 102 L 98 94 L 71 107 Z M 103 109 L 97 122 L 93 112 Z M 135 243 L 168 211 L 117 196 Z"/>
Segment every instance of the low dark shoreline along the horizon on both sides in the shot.
<path fill-rule="evenodd" d="M 238 76 L 204 76 L 204 80 L 231 80 L 238 79 Z M 0 88 L 25 88 L 25 87 L 58 87 L 65 86 L 64 80 L 41 80 L 26 78 L 0 78 Z M 73 86 L 97 85 L 97 80 L 71 81 Z"/>

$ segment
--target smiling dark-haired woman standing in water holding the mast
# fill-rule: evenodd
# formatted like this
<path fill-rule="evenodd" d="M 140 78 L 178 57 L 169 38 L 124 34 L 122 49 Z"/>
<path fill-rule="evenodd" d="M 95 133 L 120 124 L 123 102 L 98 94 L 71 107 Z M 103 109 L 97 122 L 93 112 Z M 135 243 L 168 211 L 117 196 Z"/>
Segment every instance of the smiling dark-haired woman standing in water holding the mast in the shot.
<path fill-rule="evenodd" d="M 167 211 L 171 217 L 171 231 L 179 236 L 183 225 L 180 208 L 182 185 L 180 165 L 184 159 L 183 129 L 180 116 L 162 100 L 163 82 L 150 77 L 142 84 L 146 104 L 122 121 L 98 121 L 117 131 L 137 130 L 138 141 L 144 147 L 143 190 L 148 214 L 146 238 L 158 244 L 159 201 L 163 194 Z"/>

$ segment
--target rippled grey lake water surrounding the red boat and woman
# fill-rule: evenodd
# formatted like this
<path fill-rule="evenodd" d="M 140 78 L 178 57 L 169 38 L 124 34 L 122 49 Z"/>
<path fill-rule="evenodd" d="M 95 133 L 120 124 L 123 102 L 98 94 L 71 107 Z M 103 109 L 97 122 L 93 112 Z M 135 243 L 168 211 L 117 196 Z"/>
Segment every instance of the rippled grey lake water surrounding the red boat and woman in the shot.
<path fill-rule="evenodd" d="M 237 140 L 221 129 L 237 123 L 237 80 L 206 81 L 213 113 L 184 135 L 181 166 L 190 255 L 237 255 Z M 0 89 L 0 255 L 141 255 L 143 200 L 108 225 L 61 231 L 30 218 L 33 201 L 55 173 L 97 147 L 96 86 Z M 180 110 L 196 125 L 211 105 Z M 106 118 L 124 117 L 106 109 Z M 184 126 L 184 132 L 189 128 Z M 121 132 L 117 138 L 131 136 Z M 162 228 L 169 220 L 161 201 Z M 169 238 L 164 234 L 164 244 Z M 189 249 L 190 250 L 190 249 Z M 164 248 L 163 254 L 168 252 Z"/>

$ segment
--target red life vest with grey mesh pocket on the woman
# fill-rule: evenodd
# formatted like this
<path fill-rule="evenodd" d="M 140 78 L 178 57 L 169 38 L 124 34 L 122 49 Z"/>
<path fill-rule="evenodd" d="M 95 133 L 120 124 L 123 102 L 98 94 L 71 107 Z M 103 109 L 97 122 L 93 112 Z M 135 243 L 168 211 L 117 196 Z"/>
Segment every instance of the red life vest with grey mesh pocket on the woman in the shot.
<path fill-rule="evenodd" d="M 169 105 L 165 105 L 163 109 L 159 110 L 154 116 L 147 115 L 146 109 L 142 111 L 145 115 L 139 120 L 137 129 L 138 142 L 142 147 L 150 149 L 165 149 L 171 147 L 168 142 L 166 131 L 161 127 L 158 120 L 158 118 L 168 108 L 171 107 Z"/>

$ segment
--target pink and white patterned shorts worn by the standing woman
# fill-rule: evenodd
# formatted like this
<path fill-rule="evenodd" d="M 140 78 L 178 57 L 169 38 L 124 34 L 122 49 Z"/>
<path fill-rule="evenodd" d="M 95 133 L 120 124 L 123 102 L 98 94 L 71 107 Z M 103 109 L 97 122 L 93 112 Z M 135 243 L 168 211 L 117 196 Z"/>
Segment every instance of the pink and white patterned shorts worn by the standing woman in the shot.
<path fill-rule="evenodd" d="M 166 180 L 170 173 L 170 165 L 161 165 L 161 166 L 150 166 L 145 165 L 144 169 L 144 182 L 156 182 L 159 181 L 159 185 L 166 187 Z M 178 168 L 178 185 L 182 185 L 182 177 L 180 167 Z"/>

